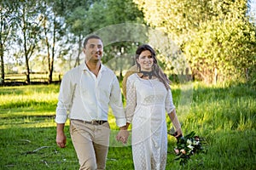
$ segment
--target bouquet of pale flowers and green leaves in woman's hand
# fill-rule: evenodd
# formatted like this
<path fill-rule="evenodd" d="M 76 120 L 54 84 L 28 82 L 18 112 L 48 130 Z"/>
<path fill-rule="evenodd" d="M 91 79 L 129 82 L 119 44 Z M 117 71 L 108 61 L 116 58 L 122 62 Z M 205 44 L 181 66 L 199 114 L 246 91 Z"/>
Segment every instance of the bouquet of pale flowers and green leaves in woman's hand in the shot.
<path fill-rule="evenodd" d="M 180 160 L 179 164 L 184 166 L 189 161 L 190 156 L 193 156 L 195 153 L 205 152 L 203 144 L 204 140 L 199 136 L 195 136 L 194 131 L 186 136 L 178 137 L 177 146 L 174 148 L 177 156 L 175 160 Z"/>

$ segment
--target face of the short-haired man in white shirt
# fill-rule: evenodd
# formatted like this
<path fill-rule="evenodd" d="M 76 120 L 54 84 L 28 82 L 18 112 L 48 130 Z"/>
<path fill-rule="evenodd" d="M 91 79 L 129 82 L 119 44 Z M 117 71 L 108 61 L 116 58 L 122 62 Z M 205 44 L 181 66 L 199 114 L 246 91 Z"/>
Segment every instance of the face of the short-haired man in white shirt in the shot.
<path fill-rule="evenodd" d="M 98 62 L 102 59 L 103 54 L 102 40 L 96 38 L 89 39 L 83 51 L 86 61 Z"/>

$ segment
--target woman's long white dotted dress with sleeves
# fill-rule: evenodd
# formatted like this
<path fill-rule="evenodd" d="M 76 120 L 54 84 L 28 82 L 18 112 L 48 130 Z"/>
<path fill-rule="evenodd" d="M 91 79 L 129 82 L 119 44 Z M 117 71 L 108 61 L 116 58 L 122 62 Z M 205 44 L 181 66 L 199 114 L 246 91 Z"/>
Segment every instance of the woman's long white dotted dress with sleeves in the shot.
<path fill-rule="evenodd" d="M 127 122 L 132 124 L 131 144 L 135 169 L 165 169 L 167 158 L 166 112 L 175 106 L 172 92 L 158 79 L 145 80 L 137 73 L 127 78 Z"/>

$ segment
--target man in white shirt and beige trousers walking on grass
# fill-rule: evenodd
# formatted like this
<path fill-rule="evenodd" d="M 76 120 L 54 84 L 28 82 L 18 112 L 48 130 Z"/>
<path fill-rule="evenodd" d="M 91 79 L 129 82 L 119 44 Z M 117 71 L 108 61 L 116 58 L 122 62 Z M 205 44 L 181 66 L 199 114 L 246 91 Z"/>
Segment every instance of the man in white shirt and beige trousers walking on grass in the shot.
<path fill-rule="evenodd" d="M 96 35 L 84 40 L 85 62 L 64 75 L 56 108 L 56 143 L 65 147 L 67 114 L 70 134 L 80 169 L 105 169 L 110 128 L 108 106 L 120 131 L 117 140 L 128 138 L 119 82 L 113 71 L 102 65 L 102 39 Z"/>

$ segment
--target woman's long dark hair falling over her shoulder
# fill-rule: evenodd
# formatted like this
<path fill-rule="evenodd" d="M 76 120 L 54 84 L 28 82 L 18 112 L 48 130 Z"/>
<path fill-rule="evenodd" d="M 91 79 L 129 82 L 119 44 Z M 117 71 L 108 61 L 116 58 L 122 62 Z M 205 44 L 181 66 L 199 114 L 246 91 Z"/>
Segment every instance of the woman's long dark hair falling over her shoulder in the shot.
<path fill-rule="evenodd" d="M 163 84 L 165 85 L 167 90 L 170 89 L 170 80 L 166 77 L 166 74 L 164 73 L 164 71 L 162 71 L 160 66 L 157 64 L 154 49 L 151 48 L 148 44 L 143 44 L 137 48 L 135 61 L 136 61 L 139 71 L 141 71 L 141 65 L 139 65 L 137 63 L 137 59 L 139 58 L 140 54 L 142 54 L 143 51 L 145 51 L 145 50 L 150 51 L 150 53 L 154 59 L 154 64 L 152 66 L 153 67 L 152 71 L 153 71 L 154 76 L 158 77 L 160 82 L 163 82 Z"/>

